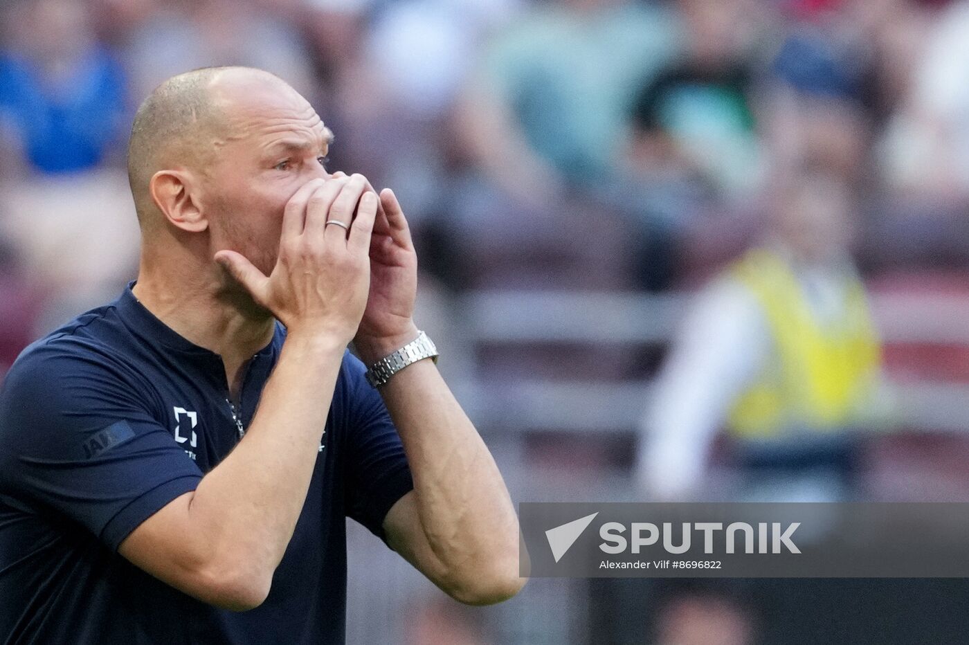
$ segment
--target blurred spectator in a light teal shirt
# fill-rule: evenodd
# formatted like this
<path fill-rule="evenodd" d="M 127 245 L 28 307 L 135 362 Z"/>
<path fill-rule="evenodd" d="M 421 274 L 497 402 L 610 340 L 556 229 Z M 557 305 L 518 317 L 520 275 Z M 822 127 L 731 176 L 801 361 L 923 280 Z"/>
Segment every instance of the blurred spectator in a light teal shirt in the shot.
<path fill-rule="evenodd" d="M 555 0 L 485 50 L 463 102 L 462 136 L 485 174 L 532 204 L 608 179 L 644 79 L 677 47 L 656 4 Z"/>

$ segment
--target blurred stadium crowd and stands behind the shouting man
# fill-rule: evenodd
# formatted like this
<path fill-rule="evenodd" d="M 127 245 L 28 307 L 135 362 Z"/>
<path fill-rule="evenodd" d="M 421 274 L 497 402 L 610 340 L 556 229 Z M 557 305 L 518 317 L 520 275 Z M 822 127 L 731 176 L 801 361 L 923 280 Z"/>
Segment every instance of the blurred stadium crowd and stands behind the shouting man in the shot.
<path fill-rule="evenodd" d="M 9 0 L 0 34 L 0 375 L 134 278 L 141 99 L 250 65 L 399 196 L 517 500 L 969 494 L 969 0 Z M 468 613 L 357 537 L 359 642 L 964 642 L 966 585 Z"/>

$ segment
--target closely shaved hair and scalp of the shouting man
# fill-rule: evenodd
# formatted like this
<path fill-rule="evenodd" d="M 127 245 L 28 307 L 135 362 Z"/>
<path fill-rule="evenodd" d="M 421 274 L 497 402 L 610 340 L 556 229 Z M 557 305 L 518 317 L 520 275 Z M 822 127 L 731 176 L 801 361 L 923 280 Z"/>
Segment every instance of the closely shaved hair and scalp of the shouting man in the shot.
<path fill-rule="evenodd" d="M 232 136 L 233 95 L 246 86 L 274 85 L 281 78 L 244 67 L 204 68 L 169 78 L 144 100 L 128 144 L 128 178 L 142 230 L 154 219 L 151 177 L 178 167 L 204 170 L 219 142 Z"/>

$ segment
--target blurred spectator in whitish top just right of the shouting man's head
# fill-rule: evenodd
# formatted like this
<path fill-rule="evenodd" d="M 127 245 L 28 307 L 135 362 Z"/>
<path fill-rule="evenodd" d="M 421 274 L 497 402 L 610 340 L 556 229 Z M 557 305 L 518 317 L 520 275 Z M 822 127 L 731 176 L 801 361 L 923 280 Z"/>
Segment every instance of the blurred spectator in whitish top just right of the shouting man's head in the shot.
<path fill-rule="evenodd" d="M 454 103 L 485 35 L 514 16 L 518 5 L 401 0 L 380 6 L 354 39 L 364 70 L 349 70 L 344 83 L 344 92 L 356 97 L 345 106 L 353 147 L 363 171 L 399 187 L 419 237 L 441 236 L 452 224 L 444 220 L 453 218 Z M 328 49 L 333 58 L 346 58 L 346 47 Z M 445 260 L 436 245 L 424 249 L 426 266 Z"/>

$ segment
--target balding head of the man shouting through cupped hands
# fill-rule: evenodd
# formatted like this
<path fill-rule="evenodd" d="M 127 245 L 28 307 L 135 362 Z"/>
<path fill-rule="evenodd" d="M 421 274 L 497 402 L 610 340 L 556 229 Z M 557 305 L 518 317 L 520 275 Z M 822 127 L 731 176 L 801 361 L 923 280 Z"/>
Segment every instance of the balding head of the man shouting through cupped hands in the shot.
<path fill-rule="evenodd" d="M 203 69 L 162 83 L 138 110 L 129 148 L 141 268 L 211 267 L 232 250 L 271 273 L 287 203 L 331 176 L 331 138 L 306 99 L 260 70 Z"/>

